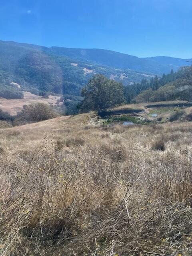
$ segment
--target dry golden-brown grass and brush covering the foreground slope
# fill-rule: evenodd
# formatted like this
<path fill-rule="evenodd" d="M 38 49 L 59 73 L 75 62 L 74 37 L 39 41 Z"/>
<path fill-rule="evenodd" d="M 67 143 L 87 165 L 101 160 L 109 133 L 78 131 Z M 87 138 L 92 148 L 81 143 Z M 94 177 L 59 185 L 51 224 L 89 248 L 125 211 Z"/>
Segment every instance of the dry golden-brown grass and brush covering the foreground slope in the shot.
<path fill-rule="evenodd" d="M 192 255 L 192 126 L 92 114 L 0 130 L 0 255 Z"/>

